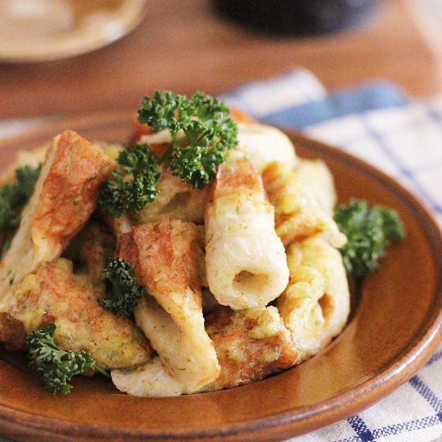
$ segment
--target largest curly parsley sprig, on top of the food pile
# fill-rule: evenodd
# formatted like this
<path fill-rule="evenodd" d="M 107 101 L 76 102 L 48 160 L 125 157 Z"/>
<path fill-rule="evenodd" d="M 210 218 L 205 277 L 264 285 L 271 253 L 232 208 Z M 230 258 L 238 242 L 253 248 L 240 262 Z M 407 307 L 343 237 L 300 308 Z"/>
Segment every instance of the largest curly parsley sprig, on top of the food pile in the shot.
<path fill-rule="evenodd" d="M 162 161 L 169 161 L 172 174 L 195 189 L 215 179 L 225 154 L 238 144 L 238 128 L 229 108 L 218 99 L 196 93 L 187 99 L 171 92 L 144 97 L 138 121 L 155 133 L 167 129 L 171 147 Z"/>

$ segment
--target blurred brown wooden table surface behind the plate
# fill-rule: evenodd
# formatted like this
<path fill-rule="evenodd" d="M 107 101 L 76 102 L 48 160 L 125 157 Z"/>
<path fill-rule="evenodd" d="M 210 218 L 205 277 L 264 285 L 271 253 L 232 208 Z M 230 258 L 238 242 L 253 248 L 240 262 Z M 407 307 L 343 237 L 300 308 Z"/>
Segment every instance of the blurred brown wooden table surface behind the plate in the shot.
<path fill-rule="evenodd" d="M 117 43 L 63 61 L 0 64 L 0 118 L 136 109 L 155 89 L 221 93 L 304 66 L 329 88 L 396 81 L 413 96 L 442 90 L 441 64 L 407 0 L 385 0 L 365 28 L 296 39 L 224 21 L 207 0 L 149 0 L 142 24 Z"/>

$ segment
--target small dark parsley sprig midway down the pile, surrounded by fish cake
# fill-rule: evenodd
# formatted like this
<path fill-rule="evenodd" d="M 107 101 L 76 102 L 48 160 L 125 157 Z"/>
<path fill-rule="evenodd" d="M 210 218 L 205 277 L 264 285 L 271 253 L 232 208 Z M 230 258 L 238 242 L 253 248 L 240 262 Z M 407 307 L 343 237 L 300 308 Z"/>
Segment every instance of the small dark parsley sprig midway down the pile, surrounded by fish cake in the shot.
<path fill-rule="evenodd" d="M 108 294 L 102 301 L 103 306 L 117 316 L 131 316 L 145 293 L 144 287 L 135 281 L 133 267 L 123 258 L 113 258 L 104 269 L 103 279 Z"/>

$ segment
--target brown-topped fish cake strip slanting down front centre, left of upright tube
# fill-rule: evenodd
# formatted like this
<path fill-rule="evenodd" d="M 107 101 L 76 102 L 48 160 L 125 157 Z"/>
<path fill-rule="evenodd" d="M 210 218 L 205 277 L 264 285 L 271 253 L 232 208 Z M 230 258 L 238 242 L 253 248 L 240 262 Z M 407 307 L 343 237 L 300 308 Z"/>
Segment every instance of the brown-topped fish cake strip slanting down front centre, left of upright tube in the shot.
<path fill-rule="evenodd" d="M 135 226 L 121 239 L 118 253 L 135 267 L 150 295 L 134 309 L 137 325 L 185 393 L 197 391 L 220 372 L 204 329 L 199 243 L 194 224 L 168 218 Z"/>

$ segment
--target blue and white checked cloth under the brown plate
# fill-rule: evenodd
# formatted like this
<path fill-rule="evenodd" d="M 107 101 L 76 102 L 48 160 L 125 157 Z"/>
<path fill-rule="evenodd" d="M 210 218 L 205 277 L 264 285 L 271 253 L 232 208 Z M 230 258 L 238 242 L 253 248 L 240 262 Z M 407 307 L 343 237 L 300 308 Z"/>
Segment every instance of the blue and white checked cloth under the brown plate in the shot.
<path fill-rule="evenodd" d="M 412 103 L 385 82 L 328 93 L 314 75 L 298 69 L 224 99 L 253 117 L 297 128 L 374 164 L 418 195 L 442 227 L 442 96 Z M 38 119 L 2 124 L 0 137 L 39 124 Z M 287 442 L 430 442 L 441 435 L 442 348 L 376 405 Z"/>

